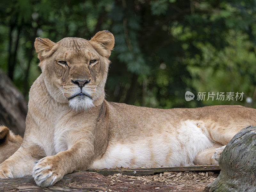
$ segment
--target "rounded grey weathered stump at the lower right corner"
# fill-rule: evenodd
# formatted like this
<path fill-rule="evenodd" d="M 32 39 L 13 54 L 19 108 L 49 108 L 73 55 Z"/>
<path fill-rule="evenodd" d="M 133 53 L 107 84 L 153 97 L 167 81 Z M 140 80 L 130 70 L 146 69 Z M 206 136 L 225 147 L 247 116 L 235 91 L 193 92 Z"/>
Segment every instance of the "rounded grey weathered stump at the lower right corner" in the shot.
<path fill-rule="evenodd" d="M 220 155 L 219 166 L 220 175 L 204 191 L 256 191 L 256 126 L 248 126 L 232 138 Z"/>

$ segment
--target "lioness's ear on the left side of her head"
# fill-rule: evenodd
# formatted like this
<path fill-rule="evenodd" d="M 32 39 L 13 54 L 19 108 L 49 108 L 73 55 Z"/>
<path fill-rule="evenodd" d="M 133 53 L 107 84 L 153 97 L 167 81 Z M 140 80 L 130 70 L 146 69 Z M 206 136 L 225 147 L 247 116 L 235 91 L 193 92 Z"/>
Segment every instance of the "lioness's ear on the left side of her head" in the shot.
<path fill-rule="evenodd" d="M 52 47 L 55 45 L 50 39 L 36 37 L 35 49 L 37 52 L 37 57 L 40 61 L 44 60 L 46 57 L 50 57 L 53 52 L 51 52 Z"/>

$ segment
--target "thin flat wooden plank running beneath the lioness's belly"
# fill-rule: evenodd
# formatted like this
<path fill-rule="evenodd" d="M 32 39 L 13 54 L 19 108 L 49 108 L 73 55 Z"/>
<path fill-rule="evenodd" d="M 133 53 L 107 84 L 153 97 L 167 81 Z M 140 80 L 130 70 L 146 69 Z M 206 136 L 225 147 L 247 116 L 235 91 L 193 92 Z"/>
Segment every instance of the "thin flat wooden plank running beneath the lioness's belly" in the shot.
<path fill-rule="evenodd" d="M 140 168 L 140 169 L 101 169 L 88 170 L 89 172 L 97 172 L 102 175 L 114 175 L 122 173 L 124 175 L 153 175 L 163 172 L 185 172 L 185 171 L 219 171 L 219 165 L 193 165 L 182 167 L 159 167 L 159 168 Z"/>

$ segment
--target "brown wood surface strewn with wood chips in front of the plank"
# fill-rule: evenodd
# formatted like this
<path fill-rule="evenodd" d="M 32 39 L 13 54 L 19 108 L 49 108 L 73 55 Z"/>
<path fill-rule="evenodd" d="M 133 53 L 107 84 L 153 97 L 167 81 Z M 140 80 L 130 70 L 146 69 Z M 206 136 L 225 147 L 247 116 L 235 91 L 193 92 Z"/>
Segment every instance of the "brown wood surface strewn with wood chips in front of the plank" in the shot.
<path fill-rule="evenodd" d="M 104 176 L 95 172 L 74 172 L 49 188 L 36 186 L 34 179 L 0 179 L 0 192 L 202 192 L 219 172 L 164 172 L 155 175 Z"/>

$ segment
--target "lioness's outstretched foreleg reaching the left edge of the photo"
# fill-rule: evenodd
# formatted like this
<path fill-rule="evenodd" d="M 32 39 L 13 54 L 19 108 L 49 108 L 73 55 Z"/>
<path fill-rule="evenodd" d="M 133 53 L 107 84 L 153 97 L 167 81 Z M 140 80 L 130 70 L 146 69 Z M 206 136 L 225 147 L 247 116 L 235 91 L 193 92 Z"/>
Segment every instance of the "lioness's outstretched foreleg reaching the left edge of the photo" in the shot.
<path fill-rule="evenodd" d="M 26 146 L 26 144 L 23 144 Z M 38 146 L 20 147 L 12 156 L 0 164 L 0 178 L 18 178 L 32 175 L 34 162 L 42 158 Z"/>

